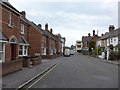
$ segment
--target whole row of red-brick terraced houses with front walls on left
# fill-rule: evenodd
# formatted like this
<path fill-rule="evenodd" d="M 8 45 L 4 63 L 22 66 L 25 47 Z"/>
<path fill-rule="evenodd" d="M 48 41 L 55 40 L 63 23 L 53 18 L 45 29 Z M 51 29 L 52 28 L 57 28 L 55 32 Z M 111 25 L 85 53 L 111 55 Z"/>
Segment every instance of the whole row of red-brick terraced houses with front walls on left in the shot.
<path fill-rule="evenodd" d="M 41 24 L 36 25 L 26 18 L 25 11 L 19 12 L 8 1 L 0 2 L 0 70 L 3 75 L 39 64 L 41 57 L 56 58 L 56 40 L 48 24 L 42 29 Z"/>

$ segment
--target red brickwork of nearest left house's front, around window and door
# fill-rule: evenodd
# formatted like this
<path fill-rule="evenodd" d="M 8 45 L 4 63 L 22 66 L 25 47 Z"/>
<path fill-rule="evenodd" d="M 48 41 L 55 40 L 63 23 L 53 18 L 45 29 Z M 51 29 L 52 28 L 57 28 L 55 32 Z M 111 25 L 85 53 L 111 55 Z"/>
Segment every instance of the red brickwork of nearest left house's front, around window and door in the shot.
<path fill-rule="evenodd" d="M 0 8 L 1 9 L 1 8 Z M 12 13 L 12 27 L 8 26 L 9 22 L 9 12 Z M 17 41 L 20 37 L 20 21 L 19 21 L 19 15 L 12 12 L 11 10 L 2 7 L 2 32 L 4 35 L 10 40 L 12 36 L 17 38 Z M 18 48 L 18 46 L 17 46 Z M 16 48 L 16 58 L 18 58 L 18 49 Z M 9 61 L 11 60 L 11 45 L 8 42 L 6 44 L 6 54 L 5 54 L 5 60 Z"/>

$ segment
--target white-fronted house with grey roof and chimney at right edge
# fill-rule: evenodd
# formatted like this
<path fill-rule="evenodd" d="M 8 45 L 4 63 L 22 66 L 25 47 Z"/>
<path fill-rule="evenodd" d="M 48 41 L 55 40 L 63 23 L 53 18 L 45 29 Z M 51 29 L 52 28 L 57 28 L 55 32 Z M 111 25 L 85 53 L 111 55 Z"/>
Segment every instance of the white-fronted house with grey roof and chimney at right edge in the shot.
<path fill-rule="evenodd" d="M 116 51 L 116 46 L 119 45 L 119 31 L 120 28 L 115 29 L 114 25 L 109 26 L 109 32 L 106 32 L 104 35 L 101 36 L 100 40 L 98 42 L 101 42 L 99 45 L 103 48 L 104 52 L 106 52 L 106 58 L 109 59 L 109 53 L 110 53 L 110 46 L 112 45 L 113 51 Z"/>

